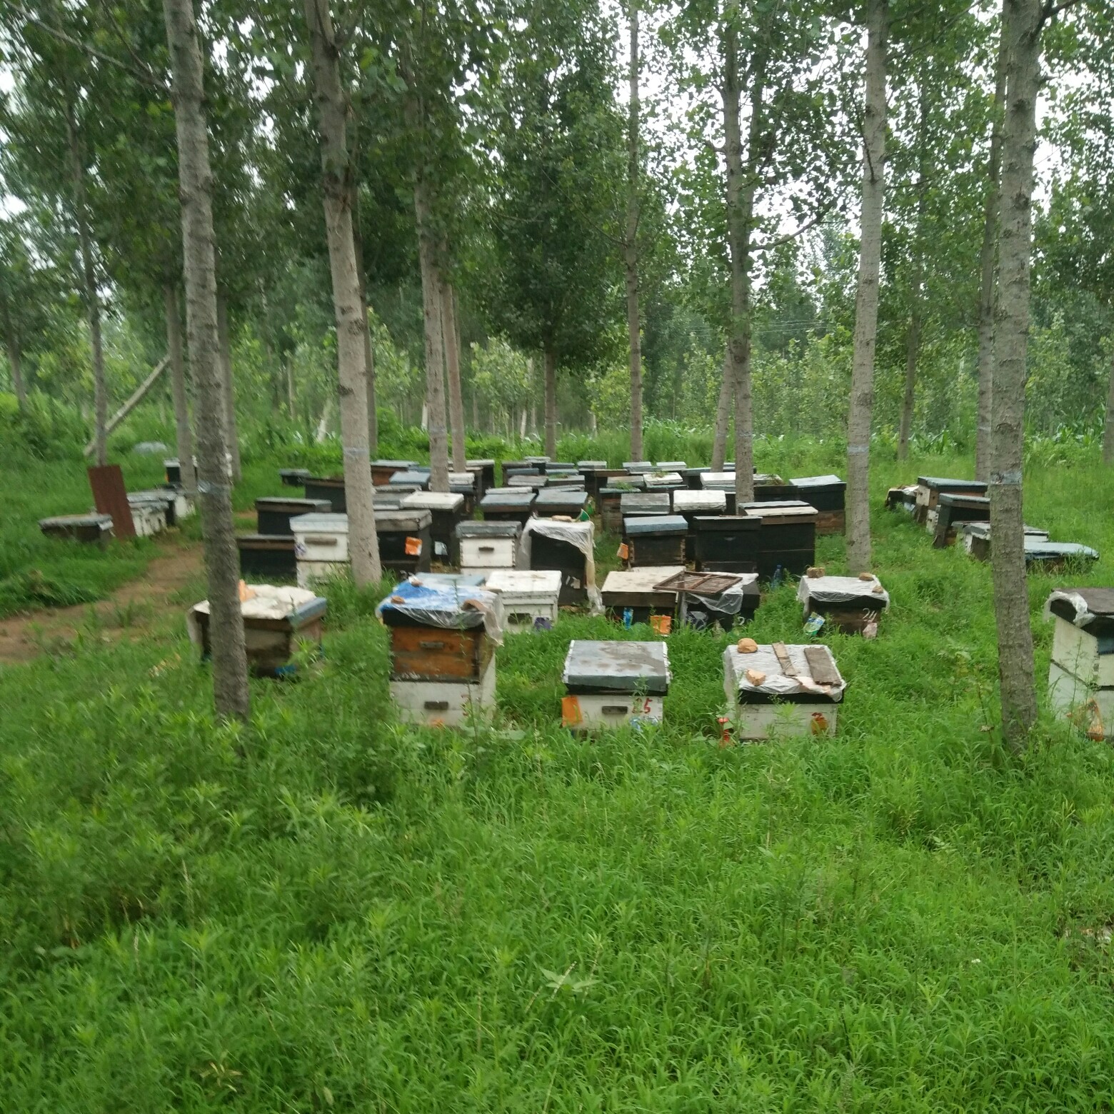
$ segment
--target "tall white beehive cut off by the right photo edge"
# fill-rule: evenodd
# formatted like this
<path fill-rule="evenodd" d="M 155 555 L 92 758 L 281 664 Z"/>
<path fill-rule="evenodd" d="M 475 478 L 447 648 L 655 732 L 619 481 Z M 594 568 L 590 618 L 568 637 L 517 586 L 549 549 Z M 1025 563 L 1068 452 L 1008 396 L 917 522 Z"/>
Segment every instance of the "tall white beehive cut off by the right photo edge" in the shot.
<path fill-rule="evenodd" d="M 1045 603 L 1055 624 L 1048 701 L 1093 739 L 1114 739 L 1114 588 L 1059 588 Z"/>

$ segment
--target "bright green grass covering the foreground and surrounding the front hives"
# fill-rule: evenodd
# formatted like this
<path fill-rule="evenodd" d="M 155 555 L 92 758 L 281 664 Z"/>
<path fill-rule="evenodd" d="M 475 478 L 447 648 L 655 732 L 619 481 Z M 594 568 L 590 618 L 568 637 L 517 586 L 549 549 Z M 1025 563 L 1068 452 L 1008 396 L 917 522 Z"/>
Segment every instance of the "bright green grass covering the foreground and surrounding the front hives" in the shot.
<path fill-rule="evenodd" d="M 1029 477 L 1087 583 L 1112 496 Z M 893 609 L 828 639 L 832 740 L 717 746 L 727 636 L 688 631 L 663 726 L 569 735 L 569 639 L 624 636 L 590 618 L 499 651 L 514 733 L 404 731 L 351 589 L 247 726 L 177 616 L 0 670 L 0 1108 L 1108 1110 L 1114 758 L 1051 721 L 1008 755 L 989 569 L 876 536 Z M 753 634 L 799 631 L 785 586 Z"/>

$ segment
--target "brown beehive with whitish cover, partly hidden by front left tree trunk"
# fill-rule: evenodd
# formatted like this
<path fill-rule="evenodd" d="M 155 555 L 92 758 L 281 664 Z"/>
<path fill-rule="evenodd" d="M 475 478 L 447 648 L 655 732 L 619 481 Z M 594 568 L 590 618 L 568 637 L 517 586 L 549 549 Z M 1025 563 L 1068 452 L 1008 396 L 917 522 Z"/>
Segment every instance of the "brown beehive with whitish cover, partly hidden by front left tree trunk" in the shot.
<path fill-rule="evenodd" d="M 300 642 L 320 647 L 328 603 L 303 588 L 253 584 L 248 590 L 253 595 L 240 605 L 248 667 L 257 676 L 285 676 L 293 671 L 291 658 Z M 189 609 L 186 629 L 207 659 L 213 653 L 207 599 Z"/>

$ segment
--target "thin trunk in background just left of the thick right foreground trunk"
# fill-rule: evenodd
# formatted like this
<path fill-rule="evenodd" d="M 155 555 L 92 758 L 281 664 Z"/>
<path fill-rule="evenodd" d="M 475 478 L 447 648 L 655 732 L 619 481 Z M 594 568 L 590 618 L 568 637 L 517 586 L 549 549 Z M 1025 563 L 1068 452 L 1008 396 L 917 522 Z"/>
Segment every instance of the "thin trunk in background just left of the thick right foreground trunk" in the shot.
<path fill-rule="evenodd" d="M 1001 21 L 1005 26 L 1006 11 Z M 978 407 L 975 430 L 975 478 L 990 478 L 990 399 L 994 383 L 994 319 L 998 264 L 998 208 L 1000 204 L 1003 104 L 1006 99 L 1006 38 L 998 46 L 994 88 L 994 121 L 986 168 L 986 202 L 983 207 L 983 247 L 979 251 L 978 299 Z"/>

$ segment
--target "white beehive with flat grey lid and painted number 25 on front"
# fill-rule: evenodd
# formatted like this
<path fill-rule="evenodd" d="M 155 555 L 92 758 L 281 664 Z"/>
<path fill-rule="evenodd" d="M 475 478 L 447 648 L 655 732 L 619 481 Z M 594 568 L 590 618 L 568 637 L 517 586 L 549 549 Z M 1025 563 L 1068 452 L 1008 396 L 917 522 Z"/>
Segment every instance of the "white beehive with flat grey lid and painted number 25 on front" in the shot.
<path fill-rule="evenodd" d="M 661 723 L 670 692 L 670 652 L 664 642 L 575 638 L 561 681 L 561 723 L 574 731 Z"/>

